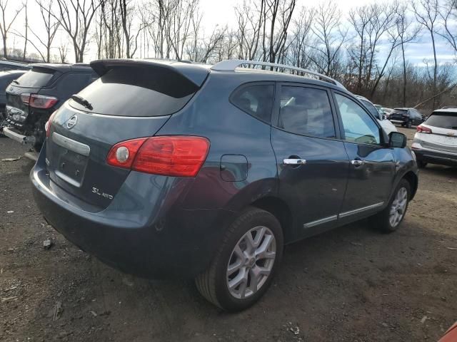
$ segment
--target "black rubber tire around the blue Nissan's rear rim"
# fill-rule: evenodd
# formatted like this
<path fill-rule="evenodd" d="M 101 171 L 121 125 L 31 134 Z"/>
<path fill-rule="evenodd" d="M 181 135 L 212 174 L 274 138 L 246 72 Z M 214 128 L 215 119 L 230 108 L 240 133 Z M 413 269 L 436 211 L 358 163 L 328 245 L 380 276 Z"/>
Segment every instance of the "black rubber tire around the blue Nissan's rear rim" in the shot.
<path fill-rule="evenodd" d="M 244 299 L 237 299 L 229 291 L 227 284 L 227 267 L 232 258 L 233 249 L 240 243 L 241 238 L 255 227 L 267 227 L 273 234 L 276 242 L 276 257 L 273 266 L 264 280 L 263 285 L 253 294 Z M 252 235 L 251 235 L 252 236 Z M 235 221 L 229 226 L 217 252 L 208 269 L 203 274 L 196 276 L 195 283 L 200 293 L 211 303 L 226 311 L 241 311 L 247 309 L 265 294 L 271 285 L 276 269 L 281 263 L 283 254 L 283 232 L 273 214 L 256 207 L 248 207 L 241 212 Z M 256 261 L 254 266 L 256 266 Z M 246 282 L 247 284 L 247 282 Z"/>

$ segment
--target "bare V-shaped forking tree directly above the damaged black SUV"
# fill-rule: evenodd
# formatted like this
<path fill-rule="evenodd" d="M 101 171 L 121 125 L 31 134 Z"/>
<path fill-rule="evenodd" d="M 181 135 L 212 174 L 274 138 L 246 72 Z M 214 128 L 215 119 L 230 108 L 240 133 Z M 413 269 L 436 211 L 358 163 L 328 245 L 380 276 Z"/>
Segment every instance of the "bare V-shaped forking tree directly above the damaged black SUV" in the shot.
<path fill-rule="evenodd" d="M 103 0 L 102 0 L 103 1 Z M 59 12 L 51 15 L 60 21 L 73 43 L 76 63 L 82 62 L 88 43 L 88 33 L 96 10 L 101 5 L 98 0 L 57 0 Z"/>

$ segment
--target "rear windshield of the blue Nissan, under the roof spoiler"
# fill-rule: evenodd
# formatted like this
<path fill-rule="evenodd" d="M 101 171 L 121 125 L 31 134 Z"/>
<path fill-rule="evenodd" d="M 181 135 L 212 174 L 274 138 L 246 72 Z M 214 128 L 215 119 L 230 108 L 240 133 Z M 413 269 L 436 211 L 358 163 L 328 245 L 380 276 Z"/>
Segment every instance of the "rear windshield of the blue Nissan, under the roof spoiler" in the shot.
<path fill-rule="evenodd" d="M 161 116 L 181 110 L 199 88 L 166 68 L 113 68 L 78 95 L 91 108 L 70 100 L 86 112 L 116 116 Z"/>

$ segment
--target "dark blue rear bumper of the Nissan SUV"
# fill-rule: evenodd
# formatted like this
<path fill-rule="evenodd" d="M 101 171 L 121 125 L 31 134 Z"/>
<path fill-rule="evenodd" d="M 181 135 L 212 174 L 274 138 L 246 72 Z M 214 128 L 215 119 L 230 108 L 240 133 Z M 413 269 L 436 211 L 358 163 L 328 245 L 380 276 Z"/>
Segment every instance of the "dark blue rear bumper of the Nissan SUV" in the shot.
<path fill-rule="evenodd" d="M 146 205 L 146 200 L 141 202 L 145 205 L 134 205 L 134 199 L 126 207 L 122 191 L 109 207 L 91 212 L 49 180 L 44 155 L 42 150 L 31 181 L 46 220 L 76 246 L 129 274 L 149 279 L 196 276 L 211 262 L 224 223 L 233 217 L 224 209 L 181 209 L 171 203 L 176 197 L 164 198 L 159 209 Z M 124 186 L 129 186 L 129 180 Z"/>

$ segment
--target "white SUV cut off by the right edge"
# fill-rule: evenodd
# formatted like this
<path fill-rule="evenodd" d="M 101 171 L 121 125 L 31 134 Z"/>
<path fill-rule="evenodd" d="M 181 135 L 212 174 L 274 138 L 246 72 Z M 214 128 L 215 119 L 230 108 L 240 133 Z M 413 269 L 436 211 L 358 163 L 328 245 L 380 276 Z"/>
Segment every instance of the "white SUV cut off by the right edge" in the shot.
<path fill-rule="evenodd" d="M 457 166 L 457 108 L 435 110 L 418 125 L 411 145 L 419 167 Z"/>

